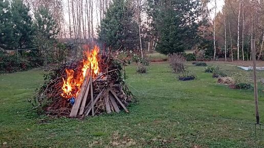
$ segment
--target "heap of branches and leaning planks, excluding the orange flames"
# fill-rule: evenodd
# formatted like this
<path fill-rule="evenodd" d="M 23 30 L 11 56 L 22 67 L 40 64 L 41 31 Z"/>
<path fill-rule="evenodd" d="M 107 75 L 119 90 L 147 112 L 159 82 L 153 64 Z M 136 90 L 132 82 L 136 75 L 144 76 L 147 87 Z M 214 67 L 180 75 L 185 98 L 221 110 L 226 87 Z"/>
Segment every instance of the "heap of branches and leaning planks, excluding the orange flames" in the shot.
<path fill-rule="evenodd" d="M 45 75 L 45 84 L 34 95 L 35 106 L 46 114 L 68 117 L 119 113 L 120 110 L 128 112 L 126 107 L 133 95 L 123 80 L 122 61 L 116 59 L 113 52 L 101 53 L 99 58 L 99 75 L 93 78 L 91 69 L 87 69 L 81 89 L 73 102 L 71 98 L 65 99 L 60 95 L 62 78 L 67 77 L 66 68 L 80 71 L 81 59 L 50 70 Z"/>

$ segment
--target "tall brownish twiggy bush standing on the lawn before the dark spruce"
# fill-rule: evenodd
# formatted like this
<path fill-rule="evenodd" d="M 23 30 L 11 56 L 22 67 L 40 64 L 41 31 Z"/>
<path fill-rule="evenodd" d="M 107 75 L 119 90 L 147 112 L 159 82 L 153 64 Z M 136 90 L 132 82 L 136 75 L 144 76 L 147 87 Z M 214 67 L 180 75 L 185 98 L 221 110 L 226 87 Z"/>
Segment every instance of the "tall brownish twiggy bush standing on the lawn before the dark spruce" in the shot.
<path fill-rule="evenodd" d="M 173 73 L 181 73 L 186 69 L 186 60 L 182 55 L 172 54 L 169 55 L 169 63 L 172 66 Z"/>

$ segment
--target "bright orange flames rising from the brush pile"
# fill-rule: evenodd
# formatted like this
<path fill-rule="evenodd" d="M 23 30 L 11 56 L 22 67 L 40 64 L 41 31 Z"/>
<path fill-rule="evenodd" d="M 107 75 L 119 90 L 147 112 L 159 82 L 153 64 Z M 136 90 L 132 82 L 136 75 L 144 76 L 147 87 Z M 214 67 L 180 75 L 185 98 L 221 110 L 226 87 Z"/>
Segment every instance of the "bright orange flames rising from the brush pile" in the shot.
<path fill-rule="evenodd" d="M 62 97 L 71 98 L 77 96 L 78 92 L 81 89 L 81 85 L 84 81 L 87 69 L 91 68 L 91 73 L 93 77 L 96 77 L 98 75 L 99 73 L 98 52 L 99 52 L 99 48 L 97 46 L 95 46 L 91 52 L 89 52 L 89 50 L 84 52 L 85 58 L 82 60 L 81 71 L 74 71 L 73 69 L 65 69 L 67 72 L 67 79 L 64 80 L 62 78 L 63 80 L 63 85 L 61 87 L 61 89 L 63 90 L 63 93 L 61 93 Z"/>

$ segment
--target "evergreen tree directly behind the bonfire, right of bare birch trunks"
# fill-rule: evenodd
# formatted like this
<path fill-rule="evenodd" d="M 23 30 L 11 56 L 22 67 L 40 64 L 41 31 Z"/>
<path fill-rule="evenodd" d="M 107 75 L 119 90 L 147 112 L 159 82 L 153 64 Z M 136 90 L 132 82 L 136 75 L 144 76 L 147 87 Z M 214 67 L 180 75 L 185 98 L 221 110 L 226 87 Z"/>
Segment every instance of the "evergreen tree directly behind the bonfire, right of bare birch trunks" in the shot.
<path fill-rule="evenodd" d="M 101 22 L 99 39 L 114 50 L 121 45 L 125 50 L 138 47 L 138 24 L 133 14 L 129 1 L 114 0 Z"/>

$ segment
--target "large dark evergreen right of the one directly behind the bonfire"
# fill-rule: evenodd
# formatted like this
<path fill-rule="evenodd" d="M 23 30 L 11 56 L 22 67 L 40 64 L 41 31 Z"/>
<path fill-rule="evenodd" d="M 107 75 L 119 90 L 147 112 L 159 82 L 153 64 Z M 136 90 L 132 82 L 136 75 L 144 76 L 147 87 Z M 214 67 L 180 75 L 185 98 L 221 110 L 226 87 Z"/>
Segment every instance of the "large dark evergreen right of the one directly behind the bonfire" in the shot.
<path fill-rule="evenodd" d="M 148 4 L 153 28 L 159 37 L 158 52 L 181 53 L 195 44 L 201 12 L 199 1 L 149 0 Z"/>

